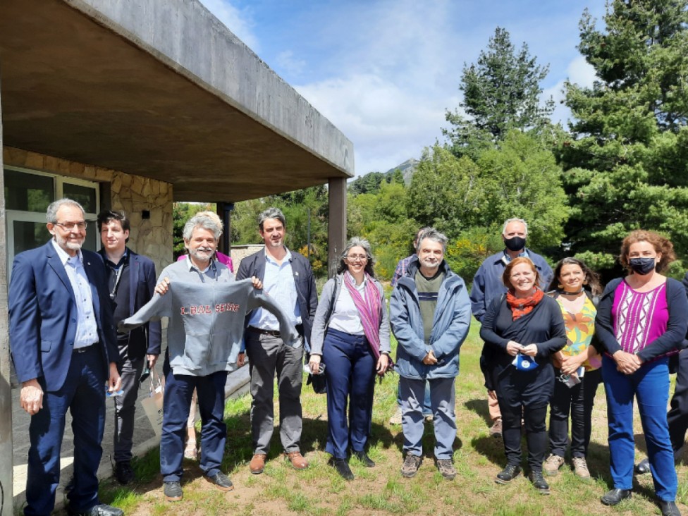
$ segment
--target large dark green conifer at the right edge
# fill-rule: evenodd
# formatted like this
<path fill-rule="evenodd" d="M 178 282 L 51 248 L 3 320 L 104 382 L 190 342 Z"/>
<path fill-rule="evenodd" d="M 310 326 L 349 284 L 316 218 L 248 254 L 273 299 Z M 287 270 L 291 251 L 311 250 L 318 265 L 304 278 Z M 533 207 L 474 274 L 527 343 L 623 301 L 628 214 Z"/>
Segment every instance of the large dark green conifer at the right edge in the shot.
<path fill-rule="evenodd" d="M 592 87 L 565 85 L 575 121 L 560 140 L 571 250 L 610 269 L 634 228 L 688 250 L 688 1 L 614 0 L 603 29 L 585 11 L 579 50 Z"/>

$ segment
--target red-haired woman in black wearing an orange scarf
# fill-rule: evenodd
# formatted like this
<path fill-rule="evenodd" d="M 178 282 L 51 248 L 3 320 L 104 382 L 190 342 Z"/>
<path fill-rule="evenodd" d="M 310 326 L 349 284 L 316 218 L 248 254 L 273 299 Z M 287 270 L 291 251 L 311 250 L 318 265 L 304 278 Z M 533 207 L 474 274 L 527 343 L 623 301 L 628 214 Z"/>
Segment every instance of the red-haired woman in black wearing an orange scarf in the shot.
<path fill-rule="evenodd" d="M 506 467 L 497 484 L 508 484 L 521 472 L 521 417 L 528 443 L 530 481 L 539 493 L 549 494 L 542 475 L 547 450 L 547 407 L 554 390 L 550 355 L 566 344 L 561 309 L 537 286 L 539 274 L 526 257 L 512 259 L 502 281 L 508 292 L 487 309 L 480 337 L 496 353 L 493 370 L 502 413 Z M 493 365 L 493 367 L 492 367 Z"/>

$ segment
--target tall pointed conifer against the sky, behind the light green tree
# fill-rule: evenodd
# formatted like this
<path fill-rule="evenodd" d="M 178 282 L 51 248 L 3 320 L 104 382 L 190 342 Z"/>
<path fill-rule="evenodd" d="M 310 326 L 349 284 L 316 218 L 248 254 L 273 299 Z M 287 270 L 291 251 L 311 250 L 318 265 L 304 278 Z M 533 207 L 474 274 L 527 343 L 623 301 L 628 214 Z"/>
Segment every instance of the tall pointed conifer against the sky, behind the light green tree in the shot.
<path fill-rule="evenodd" d="M 497 27 L 477 63 L 464 64 L 459 106 L 465 115 L 458 109 L 446 112 L 452 127 L 442 132 L 450 140 L 452 152 L 475 157 L 510 129 L 540 130 L 549 125 L 553 100 L 541 104 L 539 98 L 540 82 L 548 68 L 536 64 L 527 44 L 517 51 L 509 32 Z"/>

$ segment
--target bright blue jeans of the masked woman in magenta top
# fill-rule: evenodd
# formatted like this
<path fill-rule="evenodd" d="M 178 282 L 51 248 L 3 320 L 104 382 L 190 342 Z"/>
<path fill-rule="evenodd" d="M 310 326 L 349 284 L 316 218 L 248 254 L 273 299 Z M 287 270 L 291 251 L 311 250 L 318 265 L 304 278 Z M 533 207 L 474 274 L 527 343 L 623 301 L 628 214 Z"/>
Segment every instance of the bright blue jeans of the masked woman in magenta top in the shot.
<path fill-rule="evenodd" d="M 674 501 L 677 478 L 666 419 L 668 359 L 644 364 L 633 374 L 622 374 L 617 371 L 616 362 L 605 356 L 602 374 L 607 394 L 610 469 L 614 487 L 633 487 L 633 398 L 637 398 L 655 493 L 660 500 Z"/>

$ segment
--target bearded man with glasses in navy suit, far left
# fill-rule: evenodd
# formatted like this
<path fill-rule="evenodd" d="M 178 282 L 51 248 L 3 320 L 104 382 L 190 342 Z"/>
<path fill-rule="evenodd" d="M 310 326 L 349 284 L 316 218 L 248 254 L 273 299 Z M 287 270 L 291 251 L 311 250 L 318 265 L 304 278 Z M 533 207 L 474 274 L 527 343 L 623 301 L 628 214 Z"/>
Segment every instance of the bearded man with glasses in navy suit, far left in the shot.
<path fill-rule="evenodd" d="M 112 309 L 102 258 L 82 250 L 84 210 L 60 199 L 47 209 L 53 238 L 18 254 L 9 290 L 10 346 L 31 414 L 25 515 L 49 515 L 60 481 L 65 414 L 72 414 L 74 484 L 70 515 L 121 516 L 98 500 L 105 392 L 121 388 Z"/>

